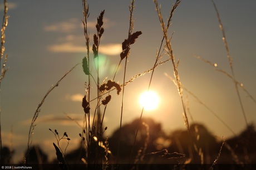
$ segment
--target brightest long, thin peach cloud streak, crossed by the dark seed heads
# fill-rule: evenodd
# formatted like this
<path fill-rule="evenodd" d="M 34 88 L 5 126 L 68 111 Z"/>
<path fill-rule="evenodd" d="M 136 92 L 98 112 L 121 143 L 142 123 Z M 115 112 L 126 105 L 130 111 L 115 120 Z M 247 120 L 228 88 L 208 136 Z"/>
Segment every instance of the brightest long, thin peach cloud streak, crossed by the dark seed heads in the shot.
<path fill-rule="evenodd" d="M 55 53 L 85 53 L 86 47 L 82 45 L 75 45 L 72 42 L 52 44 L 48 50 Z M 101 44 L 99 53 L 105 55 L 117 55 L 122 51 L 121 44 Z"/>

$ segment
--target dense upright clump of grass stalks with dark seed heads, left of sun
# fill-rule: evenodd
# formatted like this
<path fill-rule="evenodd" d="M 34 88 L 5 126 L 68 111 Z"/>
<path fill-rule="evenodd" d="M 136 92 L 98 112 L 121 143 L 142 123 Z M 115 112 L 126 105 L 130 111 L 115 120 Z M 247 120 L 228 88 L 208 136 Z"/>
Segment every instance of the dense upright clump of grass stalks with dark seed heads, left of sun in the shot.
<path fill-rule="evenodd" d="M 106 112 L 106 106 L 111 100 L 111 95 L 110 95 L 110 90 L 112 88 L 115 88 L 117 90 L 117 95 L 120 94 L 121 91 L 121 86 L 117 84 L 114 80 L 108 80 L 107 83 L 105 83 L 105 80 L 103 80 L 102 83 L 100 83 L 100 67 L 99 67 L 99 48 L 100 48 L 100 38 L 102 34 L 104 33 L 104 27 L 103 27 L 103 17 L 104 17 L 104 12 L 102 11 L 100 13 L 100 16 L 97 18 L 97 24 L 96 24 L 96 30 L 97 33 L 93 35 L 93 45 L 92 45 L 92 52 L 93 52 L 93 61 L 94 61 L 94 69 L 96 70 L 96 76 L 97 76 L 97 81 L 94 78 L 94 75 L 92 74 L 91 71 L 91 66 L 90 66 L 90 36 L 88 33 L 87 29 L 87 18 L 89 15 L 88 12 L 88 5 L 87 1 L 82 1 L 83 4 L 83 33 L 85 35 L 85 40 L 86 40 L 86 56 L 83 58 L 83 71 L 86 75 L 88 75 L 88 86 L 86 87 L 86 94 L 83 97 L 82 100 L 82 107 L 83 110 L 85 111 L 85 116 L 84 116 L 84 125 L 83 125 L 83 133 L 80 133 L 82 140 L 86 141 L 84 142 L 85 148 L 87 150 L 87 156 L 86 156 L 86 161 L 88 164 L 91 163 L 102 163 L 102 156 L 99 154 L 100 149 L 103 147 L 102 146 L 102 125 L 104 121 L 104 116 Z M 95 62 L 97 60 L 97 64 Z M 90 115 L 91 115 L 91 107 L 90 103 L 92 100 L 90 100 L 90 95 L 91 95 L 91 79 L 94 80 L 94 83 L 96 84 L 97 87 L 97 98 L 96 98 L 96 108 L 93 114 L 93 120 L 91 122 L 90 120 Z M 108 91 L 108 95 L 105 97 L 105 99 L 102 97 L 103 95 L 106 94 L 106 91 Z M 101 106 L 104 106 L 104 114 L 101 116 Z M 107 127 L 105 127 L 105 130 Z M 85 137 L 83 137 L 85 135 Z M 99 147 L 97 147 L 97 144 L 99 142 Z M 93 154 L 92 152 L 95 152 L 94 149 L 96 150 L 96 153 L 94 157 L 92 158 L 91 155 Z M 107 154 L 107 153 L 106 153 Z"/>

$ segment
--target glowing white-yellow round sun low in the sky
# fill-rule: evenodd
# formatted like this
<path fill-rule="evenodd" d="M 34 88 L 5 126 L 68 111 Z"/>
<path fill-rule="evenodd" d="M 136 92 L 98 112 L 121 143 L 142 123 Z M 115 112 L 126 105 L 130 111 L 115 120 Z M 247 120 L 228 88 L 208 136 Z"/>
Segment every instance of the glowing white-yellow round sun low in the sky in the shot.
<path fill-rule="evenodd" d="M 145 110 L 155 110 L 159 105 L 159 96 L 154 91 L 145 91 L 140 95 L 139 102 Z"/>

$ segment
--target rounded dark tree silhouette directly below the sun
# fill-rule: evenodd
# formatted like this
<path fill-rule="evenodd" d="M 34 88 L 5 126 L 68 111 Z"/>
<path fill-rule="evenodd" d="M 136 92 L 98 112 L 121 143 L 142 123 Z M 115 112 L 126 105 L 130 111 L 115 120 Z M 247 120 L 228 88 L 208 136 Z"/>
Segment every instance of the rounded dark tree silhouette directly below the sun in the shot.
<path fill-rule="evenodd" d="M 145 122 L 145 123 L 142 123 Z M 139 126 L 139 131 L 137 133 L 137 138 L 134 146 L 134 153 L 132 157 L 137 156 L 138 151 L 155 152 L 158 151 L 156 147 L 156 140 L 158 137 L 165 136 L 165 133 L 161 129 L 161 124 L 156 123 L 151 118 L 144 118 L 140 123 L 140 119 L 135 119 L 131 123 L 123 125 L 118 128 L 112 136 L 109 138 L 110 151 L 114 155 L 117 154 L 118 141 L 120 135 L 120 158 L 127 159 L 130 157 L 132 146 L 134 145 L 135 133 L 137 127 Z M 144 148 L 146 150 L 144 150 Z"/>

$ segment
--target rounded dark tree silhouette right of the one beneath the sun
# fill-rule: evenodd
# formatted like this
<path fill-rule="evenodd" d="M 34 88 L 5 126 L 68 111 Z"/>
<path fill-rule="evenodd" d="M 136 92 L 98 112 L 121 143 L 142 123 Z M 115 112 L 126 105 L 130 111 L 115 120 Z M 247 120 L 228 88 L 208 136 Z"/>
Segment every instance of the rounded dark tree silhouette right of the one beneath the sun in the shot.
<path fill-rule="evenodd" d="M 187 130 L 176 130 L 171 133 L 170 152 L 186 154 L 193 163 L 212 163 L 218 156 L 221 143 L 218 143 L 204 125 L 194 123 L 190 126 L 190 135 Z M 193 154 L 194 153 L 194 154 Z"/>

